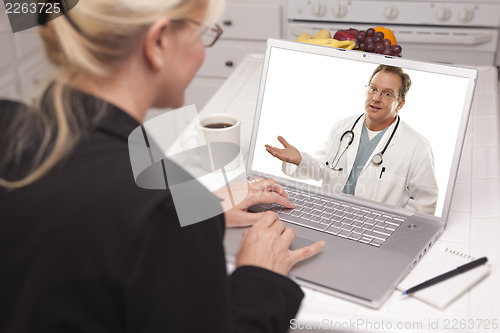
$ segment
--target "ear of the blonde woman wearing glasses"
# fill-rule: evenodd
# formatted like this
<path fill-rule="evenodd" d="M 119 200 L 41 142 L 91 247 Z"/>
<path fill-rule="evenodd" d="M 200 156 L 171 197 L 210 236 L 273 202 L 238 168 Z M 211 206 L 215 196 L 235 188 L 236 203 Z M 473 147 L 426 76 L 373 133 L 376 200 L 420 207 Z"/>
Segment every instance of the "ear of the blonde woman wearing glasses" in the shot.
<path fill-rule="evenodd" d="M 165 63 L 165 52 L 168 48 L 168 35 L 172 24 L 168 19 L 156 20 L 146 32 L 144 55 L 153 70 L 159 70 Z"/>

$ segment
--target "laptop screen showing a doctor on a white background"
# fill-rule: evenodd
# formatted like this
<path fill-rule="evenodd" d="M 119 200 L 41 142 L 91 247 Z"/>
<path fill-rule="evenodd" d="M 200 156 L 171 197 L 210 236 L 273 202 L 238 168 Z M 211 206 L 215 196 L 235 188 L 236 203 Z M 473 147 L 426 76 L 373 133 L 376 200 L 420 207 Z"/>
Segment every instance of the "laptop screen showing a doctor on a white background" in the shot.
<path fill-rule="evenodd" d="M 366 108 L 371 105 L 380 111 L 383 103 L 397 106 L 397 100 L 401 101 L 399 95 L 394 96 L 398 92 L 379 91 L 386 89 L 380 81 L 379 86 L 373 81 L 370 85 L 380 64 L 400 67 L 410 77 L 411 87 L 397 110 L 399 122 L 394 118 L 392 125 L 377 135 L 377 129 L 367 131 Z M 476 71 L 470 69 L 270 40 L 249 169 L 333 194 L 358 195 L 446 217 L 475 77 Z M 340 138 L 349 130 L 354 138 L 348 146 L 349 135 Z M 278 136 L 300 153 L 298 167 L 266 151 L 265 145 L 284 148 Z M 370 138 L 379 140 L 378 145 L 365 146 Z M 366 141 L 363 149 L 360 140 Z M 373 156 L 384 148 L 382 162 L 377 164 L 380 161 Z M 360 158 L 363 154 L 364 160 Z M 381 180 L 386 184 L 379 184 Z"/>

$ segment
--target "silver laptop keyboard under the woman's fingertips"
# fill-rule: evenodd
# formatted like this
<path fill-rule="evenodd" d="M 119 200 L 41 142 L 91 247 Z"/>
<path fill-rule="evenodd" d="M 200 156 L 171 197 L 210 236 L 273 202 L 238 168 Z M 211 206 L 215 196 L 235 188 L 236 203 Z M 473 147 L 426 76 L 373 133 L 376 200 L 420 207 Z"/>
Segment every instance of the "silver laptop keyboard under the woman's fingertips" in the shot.
<path fill-rule="evenodd" d="M 259 210 L 272 210 L 287 222 L 372 246 L 380 247 L 405 220 L 402 216 L 283 188 L 296 205 L 294 209 L 264 204 L 259 205 Z"/>

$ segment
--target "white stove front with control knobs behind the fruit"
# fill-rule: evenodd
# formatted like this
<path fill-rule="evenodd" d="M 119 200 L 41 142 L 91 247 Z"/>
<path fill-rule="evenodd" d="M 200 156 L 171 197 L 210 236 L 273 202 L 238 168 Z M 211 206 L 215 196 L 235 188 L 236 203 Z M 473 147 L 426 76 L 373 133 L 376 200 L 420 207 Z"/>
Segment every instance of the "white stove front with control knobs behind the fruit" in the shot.
<path fill-rule="evenodd" d="M 288 0 L 287 16 L 288 39 L 322 28 L 385 26 L 403 57 L 500 65 L 500 0 Z"/>

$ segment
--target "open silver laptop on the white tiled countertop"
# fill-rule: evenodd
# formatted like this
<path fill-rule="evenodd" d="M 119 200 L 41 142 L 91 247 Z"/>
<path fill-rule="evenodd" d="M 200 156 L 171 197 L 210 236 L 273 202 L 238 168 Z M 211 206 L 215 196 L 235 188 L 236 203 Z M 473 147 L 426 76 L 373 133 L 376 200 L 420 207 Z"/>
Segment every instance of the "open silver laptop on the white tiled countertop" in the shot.
<path fill-rule="evenodd" d="M 313 159 L 325 142 L 326 146 L 334 146 L 331 154 L 342 152 L 345 147 L 337 148 L 338 141 L 329 142 L 332 127 L 343 124 L 339 131 L 357 128 L 354 132 L 359 134 L 362 122 L 342 121 L 356 119 L 365 112 L 365 86 L 380 64 L 401 67 L 412 80 L 406 103 L 398 114 L 401 122 L 425 138 L 423 142 L 426 140 L 430 147 L 434 169 L 416 167 L 411 172 L 434 173 L 438 191 L 431 205 L 433 213 L 419 210 L 419 205 L 387 203 L 332 190 L 334 187 L 323 183 L 328 177 L 297 178 L 285 172 L 283 162 L 265 149 L 265 144 L 282 147 L 276 139 L 280 135 Z M 477 71 L 470 68 L 268 40 L 246 172 L 249 176 L 275 179 L 300 205 L 294 210 L 275 205 L 256 210 L 272 209 L 287 227 L 296 230 L 292 248 L 326 241 L 318 255 L 291 270 L 292 279 L 368 307 L 378 308 L 384 303 L 446 227 L 476 77 Z M 405 128 L 400 125 L 395 132 Z M 397 160 L 389 153 L 393 149 L 388 143 L 393 131 L 386 131 L 372 153 L 388 145 L 383 162 L 377 165 L 380 177 L 390 174 L 391 163 Z M 397 135 L 394 140 L 398 140 Z M 349 150 L 356 153 L 355 147 Z M 323 173 L 341 169 L 326 166 L 331 156 L 326 157 L 326 162 L 325 156 L 321 158 L 318 165 L 323 164 Z M 373 163 L 371 160 L 367 163 Z M 311 203 L 321 207 L 308 206 Z M 242 231 L 226 231 L 229 261 L 235 259 Z"/>

